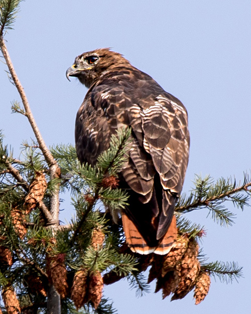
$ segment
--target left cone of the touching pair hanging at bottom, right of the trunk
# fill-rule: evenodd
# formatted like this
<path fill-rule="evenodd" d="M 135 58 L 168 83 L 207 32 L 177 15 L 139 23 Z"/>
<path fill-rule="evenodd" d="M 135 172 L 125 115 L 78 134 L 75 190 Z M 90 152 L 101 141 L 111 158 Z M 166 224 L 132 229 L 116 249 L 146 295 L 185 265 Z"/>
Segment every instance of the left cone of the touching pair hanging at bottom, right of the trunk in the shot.
<path fill-rule="evenodd" d="M 87 272 L 85 270 L 79 270 L 75 273 L 72 283 L 71 299 L 77 310 L 86 303 L 86 280 Z"/>

